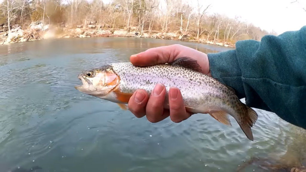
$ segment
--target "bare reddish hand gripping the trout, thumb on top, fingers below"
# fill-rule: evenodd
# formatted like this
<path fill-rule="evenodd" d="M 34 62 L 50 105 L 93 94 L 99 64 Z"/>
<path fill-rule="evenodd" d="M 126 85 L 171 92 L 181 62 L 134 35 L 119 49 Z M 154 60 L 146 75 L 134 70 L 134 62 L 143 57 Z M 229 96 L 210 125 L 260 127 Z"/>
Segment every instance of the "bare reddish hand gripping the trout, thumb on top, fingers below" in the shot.
<path fill-rule="evenodd" d="M 180 44 L 150 48 L 130 57 L 136 66 L 150 66 L 170 63 L 181 57 L 195 59 L 201 66 L 203 73 L 211 76 L 207 54 Z M 150 98 L 145 90 L 139 89 L 129 99 L 129 110 L 137 117 L 147 117 L 150 122 L 159 122 L 170 116 L 173 122 L 181 122 L 189 118 L 192 113 L 187 112 L 178 88 L 169 89 L 169 109 L 164 109 L 166 88 L 162 83 L 156 84 Z"/>

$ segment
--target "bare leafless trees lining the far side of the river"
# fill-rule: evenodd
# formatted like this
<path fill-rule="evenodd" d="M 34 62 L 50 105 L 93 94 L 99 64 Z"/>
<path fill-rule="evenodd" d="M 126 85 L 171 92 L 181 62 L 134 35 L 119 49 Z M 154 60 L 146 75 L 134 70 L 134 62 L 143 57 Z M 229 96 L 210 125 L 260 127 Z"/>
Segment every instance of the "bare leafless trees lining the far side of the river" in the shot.
<path fill-rule="evenodd" d="M 209 13 L 213 5 L 190 5 L 188 0 L 3 0 L 0 6 L 2 32 L 13 25 L 26 30 L 32 23 L 42 22 L 67 28 L 127 29 L 151 34 L 178 33 L 190 39 L 235 43 L 255 39 L 269 33 L 251 23 Z M 230 7 L 229 7 L 230 8 Z"/>

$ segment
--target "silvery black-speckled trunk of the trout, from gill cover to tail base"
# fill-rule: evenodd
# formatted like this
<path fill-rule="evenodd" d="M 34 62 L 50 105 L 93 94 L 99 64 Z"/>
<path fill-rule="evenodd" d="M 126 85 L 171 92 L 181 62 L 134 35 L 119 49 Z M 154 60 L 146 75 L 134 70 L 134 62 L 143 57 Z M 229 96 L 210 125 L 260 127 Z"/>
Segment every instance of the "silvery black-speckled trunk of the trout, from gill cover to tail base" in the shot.
<path fill-rule="evenodd" d="M 119 89 L 121 92 L 133 93 L 137 89 L 144 89 L 148 94 L 157 83 L 166 86 L 166 100 L 171 86 L 180 89 L 185 106 L 188 107 L 224 107 L 237 103 L 235 96 L 229 88 L 217 80 L 180 66 L 154 65 L 138 67 L 130 62 L 112 63 L 115 73 L 120 77 Z"/>

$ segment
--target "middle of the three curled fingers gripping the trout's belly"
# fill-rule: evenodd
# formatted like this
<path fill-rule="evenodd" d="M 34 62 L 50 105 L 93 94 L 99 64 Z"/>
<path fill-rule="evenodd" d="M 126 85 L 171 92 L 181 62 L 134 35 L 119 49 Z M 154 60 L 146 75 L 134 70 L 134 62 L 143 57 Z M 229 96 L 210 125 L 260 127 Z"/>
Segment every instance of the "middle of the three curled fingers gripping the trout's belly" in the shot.
<path fill-rule="evenodd" d="M 146 116 L 150 122 L 159 122 L 169 116 L 164 113 L 164 101 L 166 95 L 166 87 L 163 84 L 156 84 L 153 89 L 146 107 Z"/>

